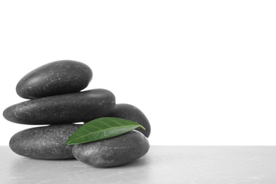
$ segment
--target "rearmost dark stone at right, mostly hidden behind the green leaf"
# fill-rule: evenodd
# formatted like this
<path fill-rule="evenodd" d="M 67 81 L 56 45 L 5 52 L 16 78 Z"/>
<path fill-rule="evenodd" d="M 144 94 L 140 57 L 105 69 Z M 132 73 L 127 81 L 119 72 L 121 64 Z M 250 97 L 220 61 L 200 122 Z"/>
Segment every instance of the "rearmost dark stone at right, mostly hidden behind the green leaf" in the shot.
<path fill-rule="evenodd" d="M 149 134 L 151 134 L 151 125 L 149 124 L 149 120 L 146 118 L 146 115 L 144 115 L 144 113 L 134 105 L 118 103 L 115 105 L 115 108 L 113 108 L 113 110 L 108 115 L 106 115 L 106 117 L 118 117 L 137 122 L 146 130 L 142 130 L 140 127 L 136 130 L 142 132 L 142 134 L 144 134 L 146 137 L 149 137 Z"/>

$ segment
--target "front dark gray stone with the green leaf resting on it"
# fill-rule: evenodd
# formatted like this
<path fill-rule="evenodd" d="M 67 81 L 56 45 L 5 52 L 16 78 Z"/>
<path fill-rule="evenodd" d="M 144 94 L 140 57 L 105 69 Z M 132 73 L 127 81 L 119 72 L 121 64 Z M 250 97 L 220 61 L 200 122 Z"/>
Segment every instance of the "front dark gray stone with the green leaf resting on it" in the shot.
<path fill-rule="evenodd" d="M 149 151 L 144 134 L 132 130 L 120 136 L 97 142 L 75 144 L 73 155 L 79 161 L 95 167 L 113 167 L 130 163 Z"/>

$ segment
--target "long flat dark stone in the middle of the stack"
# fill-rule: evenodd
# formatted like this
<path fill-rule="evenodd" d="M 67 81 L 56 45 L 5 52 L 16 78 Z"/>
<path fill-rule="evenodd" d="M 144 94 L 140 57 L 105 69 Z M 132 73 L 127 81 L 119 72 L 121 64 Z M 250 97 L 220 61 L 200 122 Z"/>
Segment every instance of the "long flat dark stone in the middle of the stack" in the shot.
<path fill-rule="evenodd" d="M 114 106 L 113 93 L 93 89 L 28 100 L 11 105 L 3 115 L 8 121 L 25 125 L 56 125 L 104 117 Z"/>

